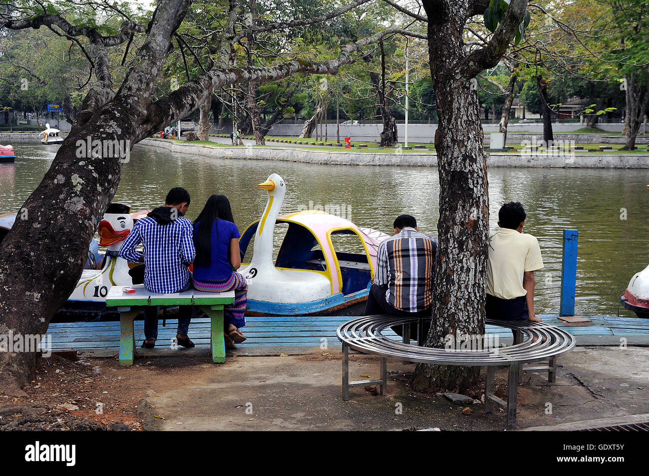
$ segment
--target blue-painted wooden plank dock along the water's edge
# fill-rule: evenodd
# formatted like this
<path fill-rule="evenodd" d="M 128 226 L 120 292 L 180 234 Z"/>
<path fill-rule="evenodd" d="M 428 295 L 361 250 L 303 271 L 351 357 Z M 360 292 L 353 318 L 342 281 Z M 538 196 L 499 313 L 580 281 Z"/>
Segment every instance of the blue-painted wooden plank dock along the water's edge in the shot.
<path fill-rule="evenodd" d="M 591 319 L 589 323 L 570 324 L 561 321 L 557 314 L 543 315 L 543 321 L 564 328 L 577 338 L 577 345 L 648 345 L 649 320 L 631 317 L 583 316 Z M 247 317 L 247 326 L 243 328 L 248 340 L 231 351 L 234 355 L 270 356 L 295 355 L 324 352 L 339 352 L 340 344 L 336 329 L 352 319 L 344 317 Z M 167 319 L 167 326 L 158 327 L 156 348 L 140 348 L 144 339 L 143 321 L 135 322 L 136 355 L 155 356 L 167 352 L 178 352 L 171 349 L 171 339 L 176 335 L 177 321 Z M 119 353 L 119 322 L 104 321 L 92 323 L 54 323 L 50 324 L 47 334 L 51 337 L 53 350 L 78 350 L 88 356 L 112 357 Z M 511 332 L 495 326 L 487 326 L 487 334 L 498 335 L 498 339 L 509 345 Z M 190 338 L 196 344 L 195 349 L 180 348 L 187 354 L 207 354 L 210 350 L 210 320 L 193 319 L 190 324 Z M 387 331 L 386 335 L 396 334 Z M 229 352 L 228 352 L 229 354 Z"/>

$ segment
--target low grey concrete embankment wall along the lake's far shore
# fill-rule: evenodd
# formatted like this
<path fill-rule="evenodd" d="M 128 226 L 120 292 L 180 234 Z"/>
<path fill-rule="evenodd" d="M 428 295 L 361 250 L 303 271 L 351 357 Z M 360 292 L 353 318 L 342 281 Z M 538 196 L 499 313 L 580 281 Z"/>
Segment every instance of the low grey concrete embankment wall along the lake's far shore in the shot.
<path fill-rule="evenodd" d="M 338 152 L 333 150 L 312 150 L 297 147 L 224 147 L 206 144 L 188 144 L 164 139 L 144 139 L 140 144 L 170 152 L 190 153 L 215 159 L 249 159 L 302 162 L 337 165 L 381 165 L 381 166 L 437 166 L 435 152 L 372 153 Z M 487 159 L 490 167 L 534 167 L 534 168 L 649 168 L 649 154 L 638 153 L 583 153 L 557 155 L 530 153 L 491 153 Z"/>

